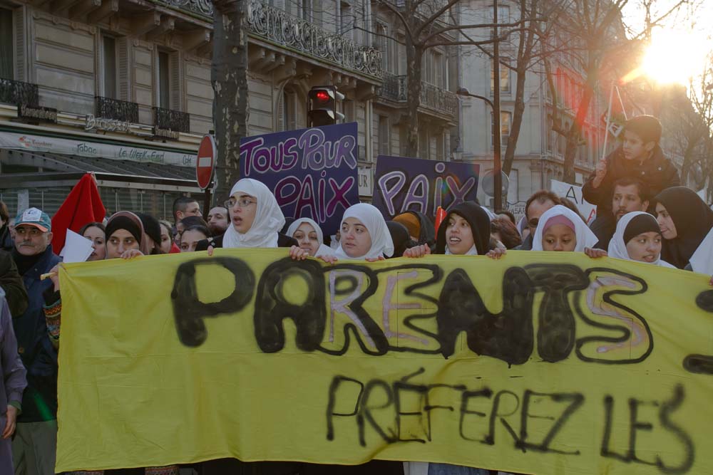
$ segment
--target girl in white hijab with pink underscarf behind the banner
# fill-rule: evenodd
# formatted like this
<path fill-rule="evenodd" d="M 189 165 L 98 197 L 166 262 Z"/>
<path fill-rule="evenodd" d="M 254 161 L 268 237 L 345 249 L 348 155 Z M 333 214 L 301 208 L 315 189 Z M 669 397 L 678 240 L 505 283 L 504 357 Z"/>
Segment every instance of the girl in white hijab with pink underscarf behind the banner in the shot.
<path fill-rule="evenodd" d="M 597 256 L 606 255 L 601 249 L 590 249 L 597 241 L 597 236 L 577 213 L 558 204 L 540 216 L 532 250 L 587 252 L 588 255 L 590 251 L 597 251 Z"/>

